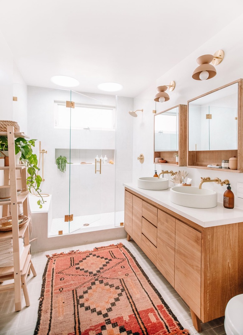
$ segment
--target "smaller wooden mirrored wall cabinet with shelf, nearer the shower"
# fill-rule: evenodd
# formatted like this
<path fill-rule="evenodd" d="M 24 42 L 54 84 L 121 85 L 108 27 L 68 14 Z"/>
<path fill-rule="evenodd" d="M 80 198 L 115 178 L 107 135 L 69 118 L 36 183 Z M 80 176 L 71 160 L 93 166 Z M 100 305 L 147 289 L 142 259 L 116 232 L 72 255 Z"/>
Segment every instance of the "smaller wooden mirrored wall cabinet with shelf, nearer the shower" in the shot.
<path fill-rule="evenodd" d="M 173 117 L 174 129 L 170 128 L 170 121 L 166 118 Z M 165 120 L 163 120 L 163 119 Z M 157 120 L 157 121 L 156 121 Z M 160 121 L 161 120 L 161 121 Z M 160 126 L 163 124 L 163 126 Z M 161 129 L 160 129 L 161 127 Z M 166 128 L 167 127 L 167 128 Z M 162 129 L 163 128 L 163 129 Z M 170 133 L 171 131 L 171 133 Z M 187 166 L 187 106 L 177 105 L 154 115 L 154 159 L 163 158 L 166 163 L 160 165 Z M 170 144 L 172 143 L 172 147 Z M 173 149 L 174 148 L 174 149 Z M 174 153 L 178 154 L 178 164 L 175 162 Z"/>

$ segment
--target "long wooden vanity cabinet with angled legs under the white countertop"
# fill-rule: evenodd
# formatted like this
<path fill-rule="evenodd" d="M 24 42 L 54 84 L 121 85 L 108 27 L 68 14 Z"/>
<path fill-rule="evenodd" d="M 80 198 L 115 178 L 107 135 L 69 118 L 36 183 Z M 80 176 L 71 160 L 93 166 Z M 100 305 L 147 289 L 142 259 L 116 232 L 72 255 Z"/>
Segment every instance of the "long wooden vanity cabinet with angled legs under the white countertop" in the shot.
<path fill-rule="evenodd" d="M 129 189 L 125 204 L 128 238 L 189 305 L 194 327 L 223 316 L 243 293 L 243 222 L 204 228 Z"/>

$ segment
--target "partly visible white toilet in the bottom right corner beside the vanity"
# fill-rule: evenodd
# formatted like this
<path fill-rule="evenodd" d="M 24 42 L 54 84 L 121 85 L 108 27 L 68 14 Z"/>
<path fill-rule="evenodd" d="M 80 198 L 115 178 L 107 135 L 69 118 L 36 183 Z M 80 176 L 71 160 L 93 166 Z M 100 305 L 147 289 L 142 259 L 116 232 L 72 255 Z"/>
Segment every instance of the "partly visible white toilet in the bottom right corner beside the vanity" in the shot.
<path fill-rule="evenodd" d="M 243 294 L 234 296 L 228 302 L 224 328 L 227 335 L 243 335 Z"/>

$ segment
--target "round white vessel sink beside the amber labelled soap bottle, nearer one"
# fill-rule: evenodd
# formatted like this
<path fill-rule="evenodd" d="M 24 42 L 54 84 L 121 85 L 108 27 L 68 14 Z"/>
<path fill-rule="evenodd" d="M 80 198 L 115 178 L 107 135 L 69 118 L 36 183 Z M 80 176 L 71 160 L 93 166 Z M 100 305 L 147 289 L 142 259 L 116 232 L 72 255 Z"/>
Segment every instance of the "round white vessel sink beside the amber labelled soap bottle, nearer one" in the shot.
<path fill-rule="evenodd" d="M 193 186 L 171 187 L 170 201 L 176 205 L 192 208 L 212 208 L 217 206 L 217 192 Z"/>

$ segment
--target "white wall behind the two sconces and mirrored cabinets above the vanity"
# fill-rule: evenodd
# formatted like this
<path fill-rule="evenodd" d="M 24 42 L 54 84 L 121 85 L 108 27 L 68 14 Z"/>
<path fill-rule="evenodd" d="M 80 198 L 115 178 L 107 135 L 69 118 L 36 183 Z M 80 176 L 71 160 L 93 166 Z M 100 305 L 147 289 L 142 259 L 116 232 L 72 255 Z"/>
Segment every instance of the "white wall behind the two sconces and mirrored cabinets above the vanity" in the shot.
<path fill-rule="evenodd" d="M 183 61 L 178 63 L 170 71 L 159 77 L 156 82 L 152 83 L 146 90 L 141 92 L 134 99 L 134 108 L 144 108 L 143 115 L 138 115 L 134 120 L 133 128 L 133 181 L 137 178 L 145 176 L 153 176 L 153 114 L 154 108 L 153 98 L 156 94 L 156 87 L 159 85 L 169 84 L 171 80 L 175 81 L 175 89 L 172 92 L 168 91 L 170 100 L 165 103 L 156 103 L 157 113 L 163 110 L 172 108 L 178 104 L 187 104 L 187 101 L 201 94 L 209 92 L 217 87 L 230 83 L 239 78 L 243 78 L 243 15 L 222 29 L 217 35 L 203 44 L 199 49 L 190 54 Z M 190 43 L 190 41 L 189 41 Z M 197 67 L 196 59 L 204 54 L 213 54 L 218 49 L 225 51 L 223 62 L 216 66 L 217 75 L 209 80 L 197 81 L 192 79 L 192 73 Z M 168 55 L 169 57 L 169 55 Z M 148 102 L 145 103 L 145 99 Z M 149 102 L 150 100 L 150 102 Z M 138 112 L 139 113 L 139 112 Z M 229 130 L 230 131 L 230 130 Z M 227 134 L 225 134 L 227 136 Z M 135 156 L 139 153 L 145 155 L 143 164 L 136 161 Z M 163 165 L 164 167 L 164 165 Z M 156 165 L 158 172 L 161 170 L 160 165 Z M 169 166 L 168 166 L 169 168 Z M 190 169 L 188 167 L 174 167 L 173 171 L 186 170 L 189 172 L 189 177 L 193 178 L 192 185 L 198 186 L 200 177 L 219 177 L 220 179 L 229 179 L 232 191 L 236 196 L 237 181 L 243 182 L 243 174 L 226 173 L 209 171 L 203 169 Z M 172 186 L 173 184 L 169 184 Z M 212 188 L 220 193 L 220 200 L 223 200 L 221 194 L 224 193 L 226 186 L 219 186 L 214 183 L 207 184 L 207 188 Z M 242 205 L 243 199 L 236 199 L 235 203 Z"/>

